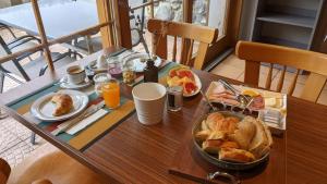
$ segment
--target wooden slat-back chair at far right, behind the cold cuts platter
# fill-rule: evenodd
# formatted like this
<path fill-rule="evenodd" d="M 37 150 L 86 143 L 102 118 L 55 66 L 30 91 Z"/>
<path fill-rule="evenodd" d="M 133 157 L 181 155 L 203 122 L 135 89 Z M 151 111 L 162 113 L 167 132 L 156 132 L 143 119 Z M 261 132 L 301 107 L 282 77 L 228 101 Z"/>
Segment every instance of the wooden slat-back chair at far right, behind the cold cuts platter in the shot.
<path fill-rule="evenodd" d="M 258 86 L 261 62 L 269 63 L 265 88 L 270 89 L 272 68 L 282 65 L 277 91 L 281 91 L 287 66 L 296 69 L 288 95 L 293 95 L 300 71 L 310 72 L 300 98 L 316 102 L 327 81 L 327 54 L 268 44 L 239 41 L 237 56 L 245 60 L 244 83 Z"/>

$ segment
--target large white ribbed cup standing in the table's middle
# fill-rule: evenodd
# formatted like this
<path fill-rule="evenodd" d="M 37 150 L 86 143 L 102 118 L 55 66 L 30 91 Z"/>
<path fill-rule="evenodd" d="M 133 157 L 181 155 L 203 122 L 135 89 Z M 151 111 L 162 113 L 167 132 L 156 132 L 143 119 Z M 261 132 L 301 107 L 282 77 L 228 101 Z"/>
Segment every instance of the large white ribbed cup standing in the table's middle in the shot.
<path fill-rule="evenodd" d="M 133 88 L 137 119 L 142 124 L 157 124 L 162 120 L 166 94 L 166 87 L 158 83 L 142 83 Z"/>

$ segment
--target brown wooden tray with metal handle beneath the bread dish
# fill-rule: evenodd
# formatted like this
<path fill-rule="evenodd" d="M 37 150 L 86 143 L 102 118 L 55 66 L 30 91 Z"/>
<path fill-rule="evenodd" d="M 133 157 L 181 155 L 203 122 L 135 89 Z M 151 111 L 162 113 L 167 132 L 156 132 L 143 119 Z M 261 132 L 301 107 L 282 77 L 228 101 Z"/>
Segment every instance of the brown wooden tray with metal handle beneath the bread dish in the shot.
<path fill-rule="evenodd" d="M 202 101 L 194 115 L 196 123 L 204 114 L 208 112 L 207 105 Z M 284 183 L 286 181 L 286 138 L 272 137 L 274 145 L 270 150 L 269 161 L 264 164 L 245 171 L 227 171 L 206 161 L 195 149 L 192 139 L 192 125 L 185 132 L 180 148 L 178 149 L 169 173 L 174 174 L 190 181 L 198 183 L 228 183 L 225 179 L 219 181 L 207 180 L 207 174 L 216 171 L 228 172 L 239 180 L 241 183 Z"/>

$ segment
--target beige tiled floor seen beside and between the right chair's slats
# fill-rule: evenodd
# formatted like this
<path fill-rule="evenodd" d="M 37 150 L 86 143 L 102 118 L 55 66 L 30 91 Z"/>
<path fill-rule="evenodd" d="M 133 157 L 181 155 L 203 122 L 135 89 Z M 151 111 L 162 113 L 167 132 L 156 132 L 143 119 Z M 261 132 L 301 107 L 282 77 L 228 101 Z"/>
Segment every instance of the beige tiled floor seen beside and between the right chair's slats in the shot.
<path fill-rule="evenodd" d="M 244 69 L 245 69 L 245 62 L 243 60 L 238 59 L 237 56 L 231 54 L 222 63 L 220 63 L 218 66 L 216 66 L 211 71 L 211 73 L 243 82 L 244 81 Z M 259 87 L 264 87 L 267 74 L 268 74 L 268 68 L 261 66 Z M 281 75 L 281 72 L 277 69 L 274 69 L 272 83 L 271 83 L 272 90 L 277 88 L 277 84 L 278 84 L 278 79 L 279 79 L 280 75 Z M 282 93 L 287 93 L 288 86 L 291 84 L 293 76 L 294 76 L 294 73 L 290 73 L 290 72 L 286 73 L 284 84 L 283 84 L 283 87 L 281 90 Z M 295 96 L 295 97 L 300 96 L 300 94 L 304 87 L 306 78 L 307 78 L 307 75 L 299 75 L 293 96 Z M 327 106 L 327 86 L 325 86 L 317 102 Z"/>

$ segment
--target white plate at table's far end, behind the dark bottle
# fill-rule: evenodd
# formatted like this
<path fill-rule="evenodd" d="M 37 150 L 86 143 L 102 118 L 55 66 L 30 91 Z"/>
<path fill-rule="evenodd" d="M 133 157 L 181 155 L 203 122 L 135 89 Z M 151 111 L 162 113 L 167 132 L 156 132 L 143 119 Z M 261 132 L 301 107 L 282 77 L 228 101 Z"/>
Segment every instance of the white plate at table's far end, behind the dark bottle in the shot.
<path fill-rule="evenodd" d="M 144 59 L 148 59 L 148 54 L 147 53 L 135 53 L 135 54 L 131 54 L 128 56 L 123 59 L 123 63 L 129 62 L 129 61 L 133 61 L 134 62 L 134 68 L 135 68 L 135 72 L 143 72 L 145 66 L 146 66 L 146 62 L 142 62 L 141 60 Z M 159 68 L 162 63 L 162 60 L 157 57 L 157 59 L 155 60 L 155 65 L 157 68 Z"/>

